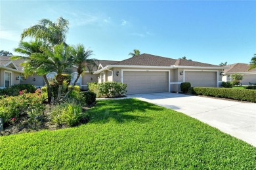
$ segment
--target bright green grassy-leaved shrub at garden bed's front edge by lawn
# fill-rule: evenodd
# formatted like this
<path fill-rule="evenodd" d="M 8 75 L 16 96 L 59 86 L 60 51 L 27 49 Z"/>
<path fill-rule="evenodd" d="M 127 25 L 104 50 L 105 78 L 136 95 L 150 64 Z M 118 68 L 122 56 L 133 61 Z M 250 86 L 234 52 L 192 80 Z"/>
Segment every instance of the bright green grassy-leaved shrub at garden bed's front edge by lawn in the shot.
<path fill-rule="evenodd" d="M 77 103 L 62 103 L 57 105 L 51 112 L 51 122 L 56 126 L 76 126 L 79 122 L 87 119 L 85 113 L 82 112 L 81 105 Z"/>

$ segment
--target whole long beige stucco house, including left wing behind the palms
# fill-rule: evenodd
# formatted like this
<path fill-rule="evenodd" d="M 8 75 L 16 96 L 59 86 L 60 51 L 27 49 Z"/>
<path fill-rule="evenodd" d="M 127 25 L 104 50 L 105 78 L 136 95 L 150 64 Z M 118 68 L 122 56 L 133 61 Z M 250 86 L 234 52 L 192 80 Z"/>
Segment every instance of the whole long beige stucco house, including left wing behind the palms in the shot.
<path fill-rule="evenodd" d="M 9 60 L 9 63 L 7 61 L 1 63 L 3 65 L 0 66 L 2 88 L 13 84 L 33 84 L 37 87 L 45 85 L 42 76 L 22 78 L 22 67 L 18 62 Z M 222 82 L 223 69 L 226 68 L 151 54 L 141 54 L 123 61 L 99 60 L 96 62 L 98 66 L 93 68 L 94 73 L 85 72 L 78 80 L 77 85 L 81 89 L 87 90 L 88 82 L 107 81 L 127 84 L 127 94 L 181 92 L 182 82 L 190 82 L 192 86 L 219 87 Z M 77 75 L 76 67 L 73 66 L 72 69 L 72 82 L 74 82 Z M 49 73 L 47 78 L 54 78 L 54 75 L 56 73 Z M 11 82 L 9 82 L 9 76 Z M 8 83 L 9 85 L 6 85 Z"/>

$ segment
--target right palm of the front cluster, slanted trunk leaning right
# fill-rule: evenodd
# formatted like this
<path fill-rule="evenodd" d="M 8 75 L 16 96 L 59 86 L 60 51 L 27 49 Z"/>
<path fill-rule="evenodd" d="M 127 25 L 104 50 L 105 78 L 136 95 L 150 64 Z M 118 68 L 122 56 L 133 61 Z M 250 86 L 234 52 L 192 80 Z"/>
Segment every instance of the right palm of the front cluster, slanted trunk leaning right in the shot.
<path fill-rule="evenodd" d="M 77 66 L 77 77 L 75 78 L 72 88 L 68 90 L 62 99 L 66 99 L 66 97 L 68 97 L 68 94 L 74 89 L 74 86 L 82 73 L 84 73 L 86 70 L 93 72 L 93 67 L 96 66 L 96 59 L 89 58 L 91 55 L 93 55 L 93 51 L 85 49 L 83 44 L 77 44 L 77 46 L 74 47 L 72 54 L 74 57 L 74 65 Z"/>

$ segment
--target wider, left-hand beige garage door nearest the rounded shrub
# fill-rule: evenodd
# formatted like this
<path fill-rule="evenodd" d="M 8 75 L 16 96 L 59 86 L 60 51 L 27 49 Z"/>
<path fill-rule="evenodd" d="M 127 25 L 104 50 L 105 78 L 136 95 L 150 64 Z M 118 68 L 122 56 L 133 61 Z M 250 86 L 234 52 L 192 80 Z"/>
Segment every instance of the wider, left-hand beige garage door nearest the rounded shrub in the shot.
<path fill-rule="evenodd" d="M 167 71 L 123 71 L 127 94 L 169 92 Z"/>

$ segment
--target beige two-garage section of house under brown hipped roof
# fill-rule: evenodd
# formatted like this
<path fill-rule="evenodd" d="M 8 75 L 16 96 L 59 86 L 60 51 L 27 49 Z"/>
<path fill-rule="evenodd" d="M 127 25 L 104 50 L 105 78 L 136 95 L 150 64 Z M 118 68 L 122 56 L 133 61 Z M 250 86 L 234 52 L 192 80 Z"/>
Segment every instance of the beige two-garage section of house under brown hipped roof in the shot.
<path fill-rule="evenodd" d="M 141 54 L 98 67 L 98 82 L 123 82 L 127 94 L 180 92 L 182 82 L 192 86 L 219 87 L 225 67 L 185 59 L 171 59 Z"/>

